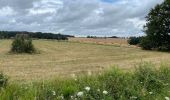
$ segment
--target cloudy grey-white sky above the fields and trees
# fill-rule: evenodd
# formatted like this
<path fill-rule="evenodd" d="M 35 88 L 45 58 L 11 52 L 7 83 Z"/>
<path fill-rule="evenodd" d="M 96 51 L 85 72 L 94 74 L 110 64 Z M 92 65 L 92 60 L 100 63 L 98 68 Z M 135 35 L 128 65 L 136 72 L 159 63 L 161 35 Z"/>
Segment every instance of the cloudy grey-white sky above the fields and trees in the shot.
<path fill-rule="evenodd" d="M 0 0 L 1 31 L 75 36 L 144 35 L 145 16 L 163 0 Z"/>

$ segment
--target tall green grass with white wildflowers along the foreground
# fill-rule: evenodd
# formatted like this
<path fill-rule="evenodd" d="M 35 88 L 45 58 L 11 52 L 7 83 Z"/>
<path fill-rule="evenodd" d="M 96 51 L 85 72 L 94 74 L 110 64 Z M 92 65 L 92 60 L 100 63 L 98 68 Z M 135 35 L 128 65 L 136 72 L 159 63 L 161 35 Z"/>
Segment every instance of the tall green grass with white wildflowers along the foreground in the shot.
<path fill-rule="evenodd" d="M 169 100 L 170 67 L 140 64 L 132 72 L 112 68 L 98 75 L 72 79 L 11 83 L 1 100 Z"/>

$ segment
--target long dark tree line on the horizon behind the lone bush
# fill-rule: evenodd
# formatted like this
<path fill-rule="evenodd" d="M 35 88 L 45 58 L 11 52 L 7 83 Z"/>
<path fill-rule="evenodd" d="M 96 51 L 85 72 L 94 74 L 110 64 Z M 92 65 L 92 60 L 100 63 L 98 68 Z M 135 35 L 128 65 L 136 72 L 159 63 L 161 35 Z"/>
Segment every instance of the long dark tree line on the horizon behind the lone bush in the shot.
<path fill-rule="evenodd" d="M 42 33 L 42 32 L 26 32 L 26 31 L 0 31 L 0 39 L 11 39 L 17 34 L 27 34 L 31 38 L 35 39 L 56 39 L 56 40 L 68 40 L 71 35 L 54 34 L 54 33 Z"/>

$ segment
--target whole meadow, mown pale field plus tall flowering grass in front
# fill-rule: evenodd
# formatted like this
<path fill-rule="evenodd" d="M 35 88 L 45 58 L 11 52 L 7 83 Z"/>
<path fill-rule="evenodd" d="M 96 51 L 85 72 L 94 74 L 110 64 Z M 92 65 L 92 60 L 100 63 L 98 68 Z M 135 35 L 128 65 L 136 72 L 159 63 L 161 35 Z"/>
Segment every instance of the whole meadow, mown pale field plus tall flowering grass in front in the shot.
<path fill-rule="evenodd" d="M 38 53 L 12 54 L 0 40 L 0 100 L 170 99 L 169 53 L 86 41 L 33 40 Z"/>

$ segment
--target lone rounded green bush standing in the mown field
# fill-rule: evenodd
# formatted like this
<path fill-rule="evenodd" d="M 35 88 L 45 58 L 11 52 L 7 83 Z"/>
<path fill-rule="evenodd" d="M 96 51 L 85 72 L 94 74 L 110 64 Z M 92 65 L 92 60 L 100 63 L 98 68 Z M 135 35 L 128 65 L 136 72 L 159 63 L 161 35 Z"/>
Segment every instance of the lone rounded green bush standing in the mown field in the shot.
<path fill-rule="evenodd" d="M 32 40 L 28 35 L 18 34 L 12 43 L 11 52 L 14 53 L 34 53 L 35 48 Z"/>

